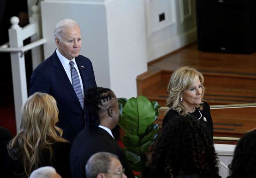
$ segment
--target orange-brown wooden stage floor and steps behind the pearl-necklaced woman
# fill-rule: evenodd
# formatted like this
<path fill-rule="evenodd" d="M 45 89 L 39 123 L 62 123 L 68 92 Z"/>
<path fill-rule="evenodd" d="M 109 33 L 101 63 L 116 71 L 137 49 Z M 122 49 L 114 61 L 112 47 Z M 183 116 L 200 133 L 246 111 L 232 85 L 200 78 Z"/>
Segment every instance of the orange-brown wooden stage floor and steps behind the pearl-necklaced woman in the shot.
<path fill-rule="evenodd" d="M 197 50 L 194 43 L 151 62 L 148 72 L 137 77 L 138 95 L 165 106 L 168 81 L 173 71 L 191 66 L 204 75 L 204 100 L 210 105 L 256 103 L 256 53 L 227 54 Z M 240 137 L 256 128 L 256 107 L 211 110 L 214 136 Z M 161 125 L 164 114 L 157 123 Z"/>

